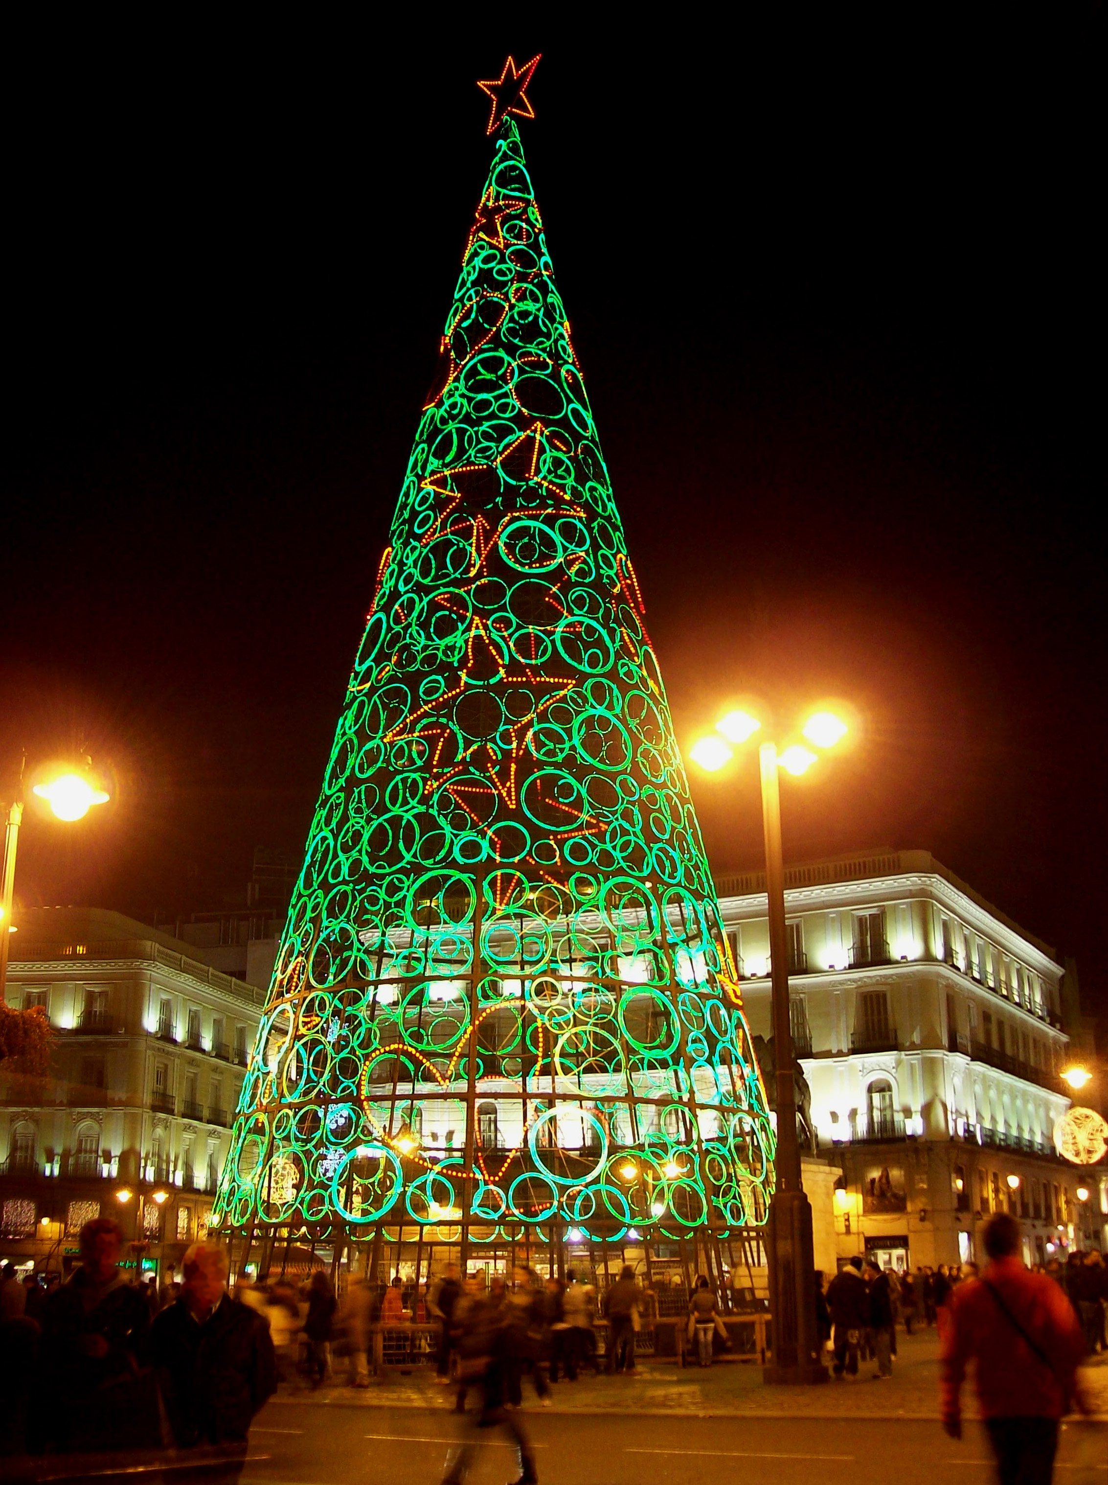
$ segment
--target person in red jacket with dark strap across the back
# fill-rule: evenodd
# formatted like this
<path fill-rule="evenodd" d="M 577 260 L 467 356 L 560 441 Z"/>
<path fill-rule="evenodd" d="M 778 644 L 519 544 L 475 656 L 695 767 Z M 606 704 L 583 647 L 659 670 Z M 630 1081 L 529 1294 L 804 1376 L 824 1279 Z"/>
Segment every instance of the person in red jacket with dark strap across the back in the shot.
<path fill-rule="evenodd" d="M 1050 1485 L 1058 1423 L 1081 1399 L 1081 1326 L 1074 1307 L 1019 1253 L 1019 1222 L 997 1212 L 985 1224 L 989 1265 L 951 1296 L 942 1351 L 942 1426 L 961 1437 L 960 1393 L 970 1357 L 977 1399 L 997 1455 L 1000 1485 Z M 1084 1411 L 1084 1409 L 1083 1409 Z"/>

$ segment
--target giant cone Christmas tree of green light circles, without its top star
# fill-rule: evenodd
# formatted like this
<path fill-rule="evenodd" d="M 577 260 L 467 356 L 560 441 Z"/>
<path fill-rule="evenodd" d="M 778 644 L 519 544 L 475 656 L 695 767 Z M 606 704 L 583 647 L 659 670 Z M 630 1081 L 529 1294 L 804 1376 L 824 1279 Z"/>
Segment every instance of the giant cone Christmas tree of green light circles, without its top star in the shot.
<path fill-rule="evenodd" d="M 507 117 L 212 1224 L 464 1250 L 728 1237 L 765 1219 L 773 1151 Z"/>

